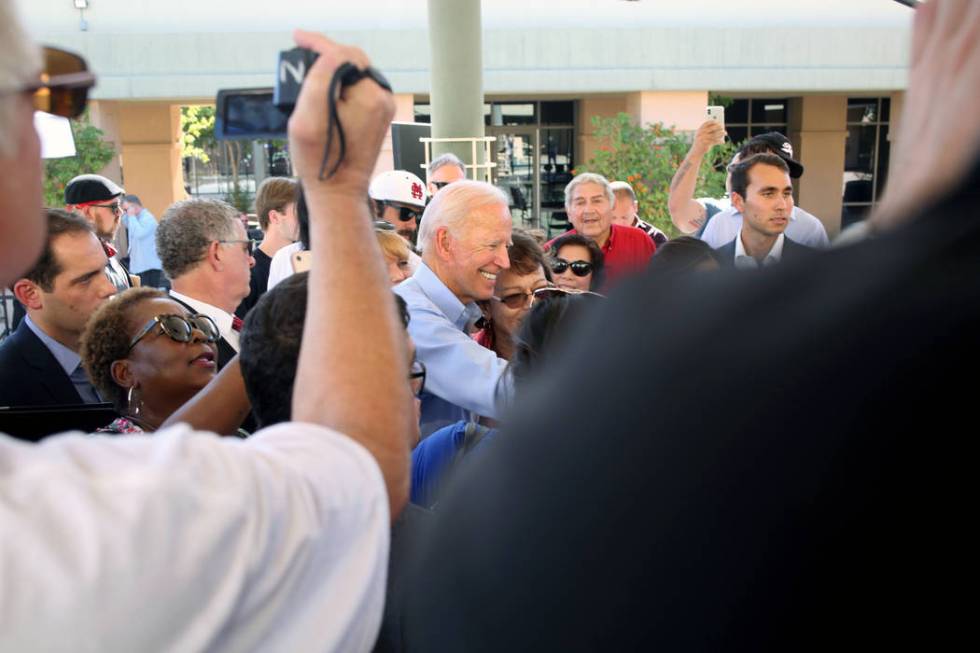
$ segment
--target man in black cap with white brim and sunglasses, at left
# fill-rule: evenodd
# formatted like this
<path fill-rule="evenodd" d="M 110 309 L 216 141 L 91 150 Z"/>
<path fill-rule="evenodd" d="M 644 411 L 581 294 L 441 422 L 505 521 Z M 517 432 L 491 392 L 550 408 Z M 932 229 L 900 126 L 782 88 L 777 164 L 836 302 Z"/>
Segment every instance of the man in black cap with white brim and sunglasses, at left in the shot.
<path fill-rule="evenodd" d="M 95 228 L 109 258 L 106 274 L 120 291 L 133 286 L 129 270 L 119 261 L 112 245 L 123 214 L 124 194 L 122 188 L 102 175 L 79 175 L 65 186 L 65 207 L 83 216 Z"/>

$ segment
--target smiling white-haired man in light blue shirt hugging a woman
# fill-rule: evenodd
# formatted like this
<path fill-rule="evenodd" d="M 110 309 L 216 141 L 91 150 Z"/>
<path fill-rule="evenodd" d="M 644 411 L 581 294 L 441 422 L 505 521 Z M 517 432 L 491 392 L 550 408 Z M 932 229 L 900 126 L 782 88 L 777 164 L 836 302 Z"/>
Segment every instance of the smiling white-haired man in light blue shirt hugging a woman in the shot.
<path fill-rule="evenodd" d="M 457 181 L 435 195 L 422 217 L 422 263 L 395 288 L 408 304 L 408 325 L 427 376 L 422 435 L 467 419 L 496 417 L 496 395 L 507 361 L 467 334 L 480 318 L 476 302 L 493 296 L 510 267 L 507 196 L 490 184 Z"/>

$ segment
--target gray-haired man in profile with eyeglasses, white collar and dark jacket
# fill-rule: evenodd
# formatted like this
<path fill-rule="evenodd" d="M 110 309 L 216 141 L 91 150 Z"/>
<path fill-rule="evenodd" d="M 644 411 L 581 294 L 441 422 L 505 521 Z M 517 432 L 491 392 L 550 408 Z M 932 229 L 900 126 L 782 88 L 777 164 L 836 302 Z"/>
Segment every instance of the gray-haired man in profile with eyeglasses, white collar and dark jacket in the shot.
<path fill-rule="evenodd" d="M 251 291 L 255 265 L 238 211 L 219 200 L 170 205 L 157 227 L 157 253 L 172 284 L 171 297 L 218 325 L 218 367 L 223 368 L 238 353 L 242 321 L 235 309 Z"/>

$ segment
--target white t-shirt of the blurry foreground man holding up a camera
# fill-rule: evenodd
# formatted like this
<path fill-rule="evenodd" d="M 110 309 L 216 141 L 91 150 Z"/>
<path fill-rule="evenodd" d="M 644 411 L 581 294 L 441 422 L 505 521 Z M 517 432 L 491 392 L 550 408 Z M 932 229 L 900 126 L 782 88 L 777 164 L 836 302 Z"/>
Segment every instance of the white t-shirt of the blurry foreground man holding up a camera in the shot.
<path fill-rule="evenodd" d="M 366 651 L 388 545 L 374 458 L 323 427 L 0 435 L 3 651 Z"/>

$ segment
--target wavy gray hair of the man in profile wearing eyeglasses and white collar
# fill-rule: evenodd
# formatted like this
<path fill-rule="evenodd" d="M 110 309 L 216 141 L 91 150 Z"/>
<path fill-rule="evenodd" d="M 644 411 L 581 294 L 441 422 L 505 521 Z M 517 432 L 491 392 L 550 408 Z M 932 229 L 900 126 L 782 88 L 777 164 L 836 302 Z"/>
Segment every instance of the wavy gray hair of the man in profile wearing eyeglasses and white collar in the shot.
<path fill-rule="evenodd" d="M 216 240 L 235 240 L 238 211 L 221 200 L 190 199 L 171 204 L 157 227 L 157 255 L 171 279 L 204 260 Z"/>

